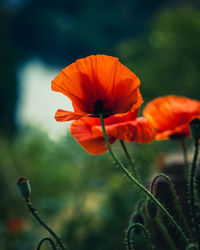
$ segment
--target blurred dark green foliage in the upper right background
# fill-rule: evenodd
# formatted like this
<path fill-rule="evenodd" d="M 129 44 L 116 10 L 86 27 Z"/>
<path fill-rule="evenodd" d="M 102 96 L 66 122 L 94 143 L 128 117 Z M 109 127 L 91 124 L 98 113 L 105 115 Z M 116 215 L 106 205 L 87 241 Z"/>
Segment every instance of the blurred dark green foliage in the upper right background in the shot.
<path fill-rule="evenodd" d="M 160 11 L 116 52 L 140 77 L 145 101 L 169 94 L 199 99 L 199 44 L 200 10 L 183 5 Z"/>

